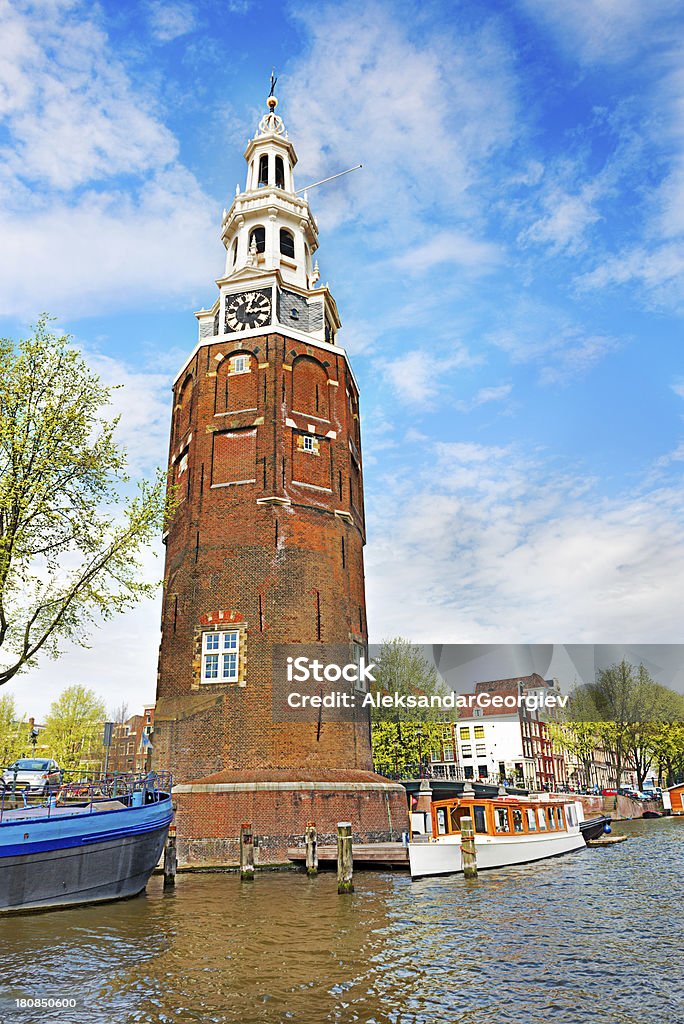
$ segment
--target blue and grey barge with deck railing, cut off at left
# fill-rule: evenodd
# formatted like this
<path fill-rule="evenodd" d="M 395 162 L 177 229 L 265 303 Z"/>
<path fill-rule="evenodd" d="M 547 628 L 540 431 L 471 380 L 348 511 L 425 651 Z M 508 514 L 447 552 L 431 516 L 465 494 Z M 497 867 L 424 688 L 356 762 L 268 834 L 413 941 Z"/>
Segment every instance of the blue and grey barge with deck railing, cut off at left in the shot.
<path fill-rule="evenodd" d="M 0 913 L 137 895 L 172 820 L 165 772 L 65 786 L 39 806 L 3 806 Z"/>

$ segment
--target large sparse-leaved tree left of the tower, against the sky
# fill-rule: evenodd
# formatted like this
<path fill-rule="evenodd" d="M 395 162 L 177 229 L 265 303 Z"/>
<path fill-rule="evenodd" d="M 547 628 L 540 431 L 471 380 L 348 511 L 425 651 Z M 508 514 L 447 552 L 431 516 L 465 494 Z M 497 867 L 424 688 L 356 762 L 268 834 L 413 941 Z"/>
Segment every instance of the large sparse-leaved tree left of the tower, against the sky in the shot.
<path fill-rule="evenodd" d="M 162 528 L 165 482 L 122 502 L 110 395 L 46 317 L 0 340 L 0 685 L 154 589 L 137 559 Z"/>

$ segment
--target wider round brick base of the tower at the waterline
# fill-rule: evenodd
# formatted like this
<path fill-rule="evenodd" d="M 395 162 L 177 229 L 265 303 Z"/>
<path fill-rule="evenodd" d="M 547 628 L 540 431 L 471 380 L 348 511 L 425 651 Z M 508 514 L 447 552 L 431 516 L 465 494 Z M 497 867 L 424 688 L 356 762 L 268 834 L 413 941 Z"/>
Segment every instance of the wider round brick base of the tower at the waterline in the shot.
<path fill-rule="evenodd" d="M 240 826 L 254 831 L 254 860 L 288 862 L 306 825 L 318 843 L 336 842 L 338 821 L 350 821 L 357 843 L 396 842 L 409 827 L 407 793 L 370 771 L 222 771 L 173 787 L 178 863 L 232 867 L 240 863 Z"/>

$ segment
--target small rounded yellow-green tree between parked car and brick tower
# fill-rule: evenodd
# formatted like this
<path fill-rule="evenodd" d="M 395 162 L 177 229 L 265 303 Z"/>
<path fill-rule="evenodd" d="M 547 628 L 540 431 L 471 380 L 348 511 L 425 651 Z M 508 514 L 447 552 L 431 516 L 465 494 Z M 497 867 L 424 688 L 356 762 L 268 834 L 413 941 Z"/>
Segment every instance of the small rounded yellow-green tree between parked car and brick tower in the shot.
<path fill-rule="evenodd" d="M 41 745 L 60 768 L 86 768 L 102 758 L 104 703 L 85 686 L 70 686 L 50 706 Z"/>

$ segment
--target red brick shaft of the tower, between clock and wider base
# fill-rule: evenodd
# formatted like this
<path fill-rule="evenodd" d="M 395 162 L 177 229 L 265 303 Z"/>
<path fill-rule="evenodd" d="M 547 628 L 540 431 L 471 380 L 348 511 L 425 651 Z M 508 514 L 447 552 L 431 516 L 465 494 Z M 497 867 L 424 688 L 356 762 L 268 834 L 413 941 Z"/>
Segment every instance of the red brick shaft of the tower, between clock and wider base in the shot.
<path fill-rule="evenodd" d="M 316 641 L 318 624 L 325 643 L 367 637 L 360 452 L 353 503 L 349 496 L 350 441 L 358 449 L 355 384 L 340 354 L 274 334 L 249 344 L 250 374 L 238 376 L 250 378 L 245 387 L 256 395 L 255 411 L 218 410 L 220 374 L 237 351 L 220 343 L 190 359 L 175 401 L 190 410 L 170 453 L 174 465 L 187 453 L 187 497 L 166 538 L 154 765 L 171 768 L 178 781 L 222 768 L 305 766 L 314 778 L 320 768 L 372 767 L 367 723 L 326 724 L 317 735 L 315 723 L 274 724 L 271 714 L 273 643 Z M 230 386 L 228 379 L 228 395 Z M 310 432 L 312 414 L 298 412 L 293 395 L 297 406 L 315 409 L 316 386 L 317 413 L 329 416 L 315 421 L 327 454 L 302 455 L 309 479 L 297 483 L 293 433 Z M 212 477 L 221 445 L 230 451 L 234 438 L 248 436 L 237 442 L 239 469 L 222 454 L 225 477 Z M 230 474 L 255 482 L 212 485 Z M 332 489 L 307 486 L 314 477 L 332 479 Z M 233 609 L 243 624 L 244 686 L 199 682 L 198 630 L 219 608 Z"/>

